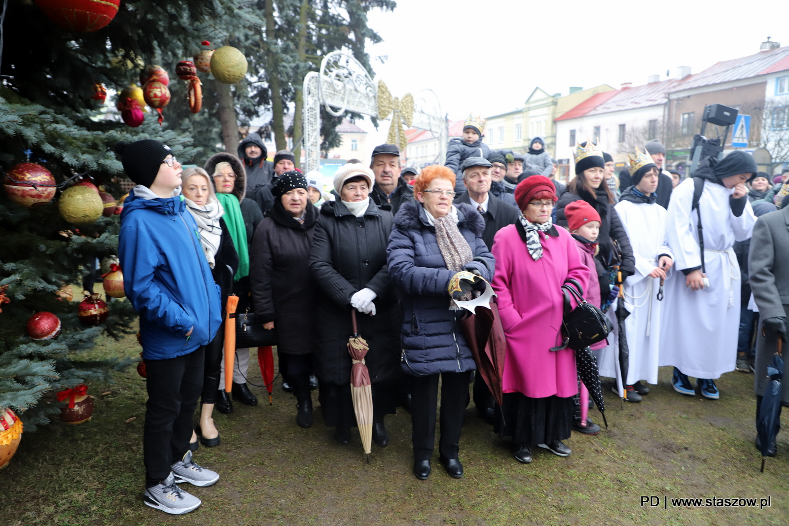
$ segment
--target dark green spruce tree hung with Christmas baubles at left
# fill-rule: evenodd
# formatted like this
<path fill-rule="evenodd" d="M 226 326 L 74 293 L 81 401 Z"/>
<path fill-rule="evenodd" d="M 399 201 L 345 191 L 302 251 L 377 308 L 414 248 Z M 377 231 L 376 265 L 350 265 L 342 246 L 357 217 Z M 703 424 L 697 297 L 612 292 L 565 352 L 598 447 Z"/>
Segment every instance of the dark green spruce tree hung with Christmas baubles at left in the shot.
<path fill-rule="evenodd" d="M 202 39 L 223 45 L 234 29 L 254 32 L 261 24 L 241 0 L 124 0 L 114 20 L 92 33 L 60 28 L 33 2 L 7 2 L 6 9 L 0 168 L 5 173 L 29 158 L 50 170 L 58 183 L 84 173 L 116 198 L 124 193 L 119 184 L 122 165 L 114 154 L 118 141 L 161 140 L 181 162 L 200 153 L 187 132 L 189 119 L 208 129 L 210 114 L 195 118 L 188 109 L 174 107 L 184 104 L 186 90 L 174 75 L 175 65 L 191 59 Z M 174 95 L 163 110 L 164 125 L 156 122 L 155 112 L 136 129 L 118 118 L 103 118 L 92 99 L 94 83 L 120 91 L 138 84 L 142 66 L 153 64 L 170 73 Z M 112 301 L 107 321 L 86 327 L 77 319 L 77 303 L 58 298 L 62 285 L 75 285 L 75 299 L 80 299 L 89 263 L 117 253 L 119 231 L 118 215 L 88 226 L 69 225 L 58 211 L 60 195 L 58 190 L 50 203 L 25 208 L 0 192 L 0 287 L 7 285 L 10 300 L 0 304 L 0 408 L 17 412 L 26 431 L 59 411 L 58 404 L 42 403 L 45 395 L 80 383 L 90 387 L 125 365 L 120 360 L 75 358 L 103 332 L 115 338 L 129 333 L 135 318 L 128 301 Z M 39 311 L 58 315 L 62 331 L 57 338 L 28 337 L 27 320 Z"/>

